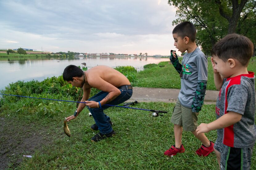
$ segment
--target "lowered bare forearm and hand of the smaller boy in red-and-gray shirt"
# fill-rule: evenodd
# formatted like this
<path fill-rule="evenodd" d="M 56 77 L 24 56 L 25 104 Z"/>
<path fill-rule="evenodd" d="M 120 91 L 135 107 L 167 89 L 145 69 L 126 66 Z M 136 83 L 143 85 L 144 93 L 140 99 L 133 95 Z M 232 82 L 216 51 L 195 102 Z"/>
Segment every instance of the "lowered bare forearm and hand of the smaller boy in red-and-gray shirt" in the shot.
<path fill-rule="evenodd" d="M 242 114 L 239 114 L 236 112 L 228 112 L 211 123 L 208 123 L 208 124 L 201 123 L 196 128 L 196 134 L 207 133 L 211 130 L 226 128 L 230 125 L 237 123 L 238 121 L 241 120 L 241 118 L 242 118 Z"/>

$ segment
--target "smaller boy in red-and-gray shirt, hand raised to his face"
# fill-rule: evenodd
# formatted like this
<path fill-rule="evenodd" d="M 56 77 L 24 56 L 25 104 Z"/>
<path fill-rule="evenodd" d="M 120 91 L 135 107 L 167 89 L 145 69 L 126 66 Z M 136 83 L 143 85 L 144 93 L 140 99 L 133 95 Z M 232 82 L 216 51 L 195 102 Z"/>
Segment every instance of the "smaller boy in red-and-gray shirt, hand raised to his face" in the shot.
<path fill-rule="evenodd" d="M 200 124 L 197 134 L 217 129 L 214 145 L 220 169 L 249 170 L 256 140 L 255 76 L 247 71 L 253 43 L 245 36 L 229 34 L 212 49 L 214 83 L 220 90 L 217 120 Z"/>

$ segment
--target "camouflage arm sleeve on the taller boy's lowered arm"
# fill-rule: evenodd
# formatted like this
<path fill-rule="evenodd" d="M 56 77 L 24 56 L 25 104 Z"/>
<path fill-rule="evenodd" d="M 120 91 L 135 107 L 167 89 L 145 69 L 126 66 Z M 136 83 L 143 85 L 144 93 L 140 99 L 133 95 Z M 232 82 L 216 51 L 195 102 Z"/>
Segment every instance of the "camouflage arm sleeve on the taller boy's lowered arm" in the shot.
<path fill-rule="evenodd" d="M 192 112 L 199 112 L 204 104 L 204 95 L 206 91 L 206 80 L 198 80 L 198 85 L 196 88 L 196 93 L 192 103 Z"/>

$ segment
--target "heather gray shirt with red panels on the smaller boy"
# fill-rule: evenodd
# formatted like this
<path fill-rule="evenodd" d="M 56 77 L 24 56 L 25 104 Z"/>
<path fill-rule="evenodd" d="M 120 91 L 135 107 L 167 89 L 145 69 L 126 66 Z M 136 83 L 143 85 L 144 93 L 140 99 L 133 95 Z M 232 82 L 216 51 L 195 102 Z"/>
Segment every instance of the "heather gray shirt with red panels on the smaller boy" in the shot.
<path fill-rule="evenodd" d="M 250 148 L 256 139 L 255 76 L 253 72 L 224 79 L 216 101 L 216 118 L 229 111 L 242 114 L 237 123 L 217 130 L 217 138 L 233 148 Z"/>

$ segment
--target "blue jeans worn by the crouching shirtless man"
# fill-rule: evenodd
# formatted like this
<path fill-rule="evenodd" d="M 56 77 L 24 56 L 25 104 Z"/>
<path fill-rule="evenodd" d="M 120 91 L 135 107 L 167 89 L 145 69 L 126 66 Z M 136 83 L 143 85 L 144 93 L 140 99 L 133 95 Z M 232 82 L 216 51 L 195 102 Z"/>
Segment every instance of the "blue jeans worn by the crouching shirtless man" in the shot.
<path fill-rule="evenodd" d="M 127 101 L 128 99 L 130 99 L 130 97 L 132 96 L 132 89 L 128 89 L 128 90 L 119 89 L 119 90 L 121 91 L 121 94 L 117 98 L 115 98 L 113 101 L 110 101 L 109 103 L 107 103 L 108 105 L 119 105 Z M 101 91 L 97 93 L 95 96 L 89 98 L 88 101 L 97 101 L 97 102 L 101 101 L 107 96 L 107 94 L 108 92 Z M 109 107 L 111 106 L 103 105 L 101 108 L 88 107 L 89 111 L 92 113 L 92 116 L 96 125 L 99 128 L 99 131 L 103 134 L 108 134 L 113 130 L 112 126 L 109 123 L 110 117 L 103 112 L 103 110 Z"/>

